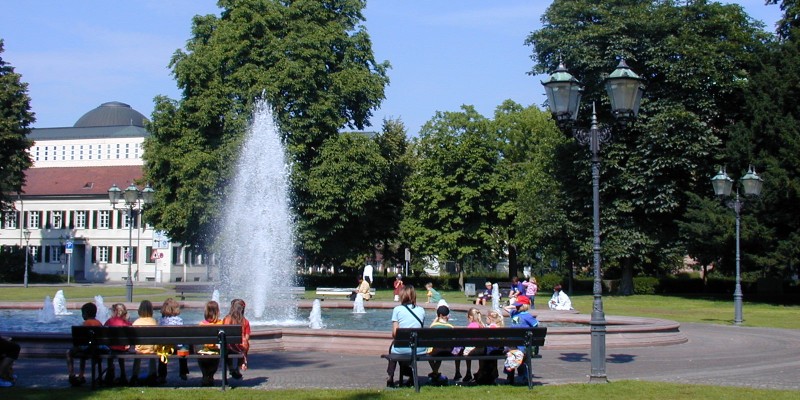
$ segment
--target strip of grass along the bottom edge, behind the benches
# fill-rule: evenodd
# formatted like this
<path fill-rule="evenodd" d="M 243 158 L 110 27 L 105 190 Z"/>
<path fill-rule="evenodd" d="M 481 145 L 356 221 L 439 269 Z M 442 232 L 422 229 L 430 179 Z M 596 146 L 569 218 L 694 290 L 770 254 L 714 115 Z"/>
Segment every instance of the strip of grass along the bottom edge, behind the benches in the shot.
<path fill-rule="evenodd" d="M 797 391 L 733 388 L 705 385 L 683 385 L 672 383 L 619 381 L 605 385 L 572 384 L 541 386 L 529 391 L 527 387 L 479 386 L 479 387 L 424 387 L 422 392 L 413 389 L 390 390 L 331 390 L 331 389 L 293 389 L 293 390 L 254 390 L 233 389 L 221 392 L 219 389 L 166 389 L 166 388 L 126 388 L 101 389 L 2 389 L 3 398 L 49 400 L 204 400 L 204 399 L 343 399 L 343 400 L 393 400 L 409 397 L 426 400 L 457 400 L 478 398 L 491 399 L 743 399 L 768 398 L 770 400 L 796 399 Z"/>

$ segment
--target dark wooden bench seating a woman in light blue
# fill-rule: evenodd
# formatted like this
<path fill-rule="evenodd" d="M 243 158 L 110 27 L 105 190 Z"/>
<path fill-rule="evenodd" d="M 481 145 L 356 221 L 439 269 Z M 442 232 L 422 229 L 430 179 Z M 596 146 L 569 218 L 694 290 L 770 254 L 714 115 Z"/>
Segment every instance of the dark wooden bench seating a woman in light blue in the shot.
<path fill-rule="evenodd" d="M 416 354 L 421 348 L 450 347 L 525 347 L 525 365 L 527 368 L 528 389 L 533 388 L 533 356 L 535 347 L 543 346 L 547 328 L 399 328 L 394 338 L 395 347 L 410 347 L 411 354 L 384 354 L 381 357 L 390 361 L 410 362 L 414 390 L 419 392 L 419 373 L 417 363 L 420 361 L 444 360 L 502 360 L 505 352 L 500 354 L 481 355 L 428 355 Z"/>

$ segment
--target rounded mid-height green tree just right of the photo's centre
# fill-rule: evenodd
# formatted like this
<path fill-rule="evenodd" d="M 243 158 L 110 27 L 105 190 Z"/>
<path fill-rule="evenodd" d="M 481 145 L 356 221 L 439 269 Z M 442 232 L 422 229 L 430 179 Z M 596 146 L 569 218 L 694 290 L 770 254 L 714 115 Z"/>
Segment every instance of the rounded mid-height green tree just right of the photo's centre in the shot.
<path fill-rule="evenodd" d="M 437 112 L 412 146 L 413 166 L 401 238 L 413 254 L 439 260 L 501 257 L 494 209 L 498 196 L 496 135 L 472 106 Z"/>

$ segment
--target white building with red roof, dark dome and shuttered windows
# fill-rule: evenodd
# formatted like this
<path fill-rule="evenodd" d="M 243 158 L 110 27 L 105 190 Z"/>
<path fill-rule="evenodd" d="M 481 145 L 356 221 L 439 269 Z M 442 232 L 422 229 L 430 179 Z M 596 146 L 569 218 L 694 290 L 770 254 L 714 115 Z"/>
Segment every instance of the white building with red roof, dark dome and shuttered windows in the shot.
<path fill-rule="evenodd" d="M 109 102 L 73 127 L 33 129 L 34 164 L 26 171 L 15 211 L 2 215 L 0 245 L 24 246 L 24 231 L 30 231 L 33 271 L 69 274 L 71 281 L 124 281 L 128 254 L 134 281 L 207 280 L 211 271 L 203 257 L 168 241 L 154 246 L 156 233 L 140 215 L 134 215 L 131 230 L 125 202 L 116 208 L 109 202 L 112 185 L 125 190 L 141 183 L 142 145 L 149 135 L 144 122 L 129 105 Z"/>

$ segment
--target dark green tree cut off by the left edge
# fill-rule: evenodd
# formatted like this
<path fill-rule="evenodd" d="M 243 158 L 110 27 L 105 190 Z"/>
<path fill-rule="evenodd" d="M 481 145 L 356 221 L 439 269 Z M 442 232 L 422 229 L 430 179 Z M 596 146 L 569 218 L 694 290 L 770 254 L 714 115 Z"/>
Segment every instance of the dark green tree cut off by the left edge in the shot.
<path fill-rule="evenodd" d="M 13 206 L 14 193 L 25 184 L 25 170 L 32 165 L 28 148 L 30 126 L 36 120 L 31 112 L 28 84 L 3 60 L 0 39 L 0 211 Z"/>

